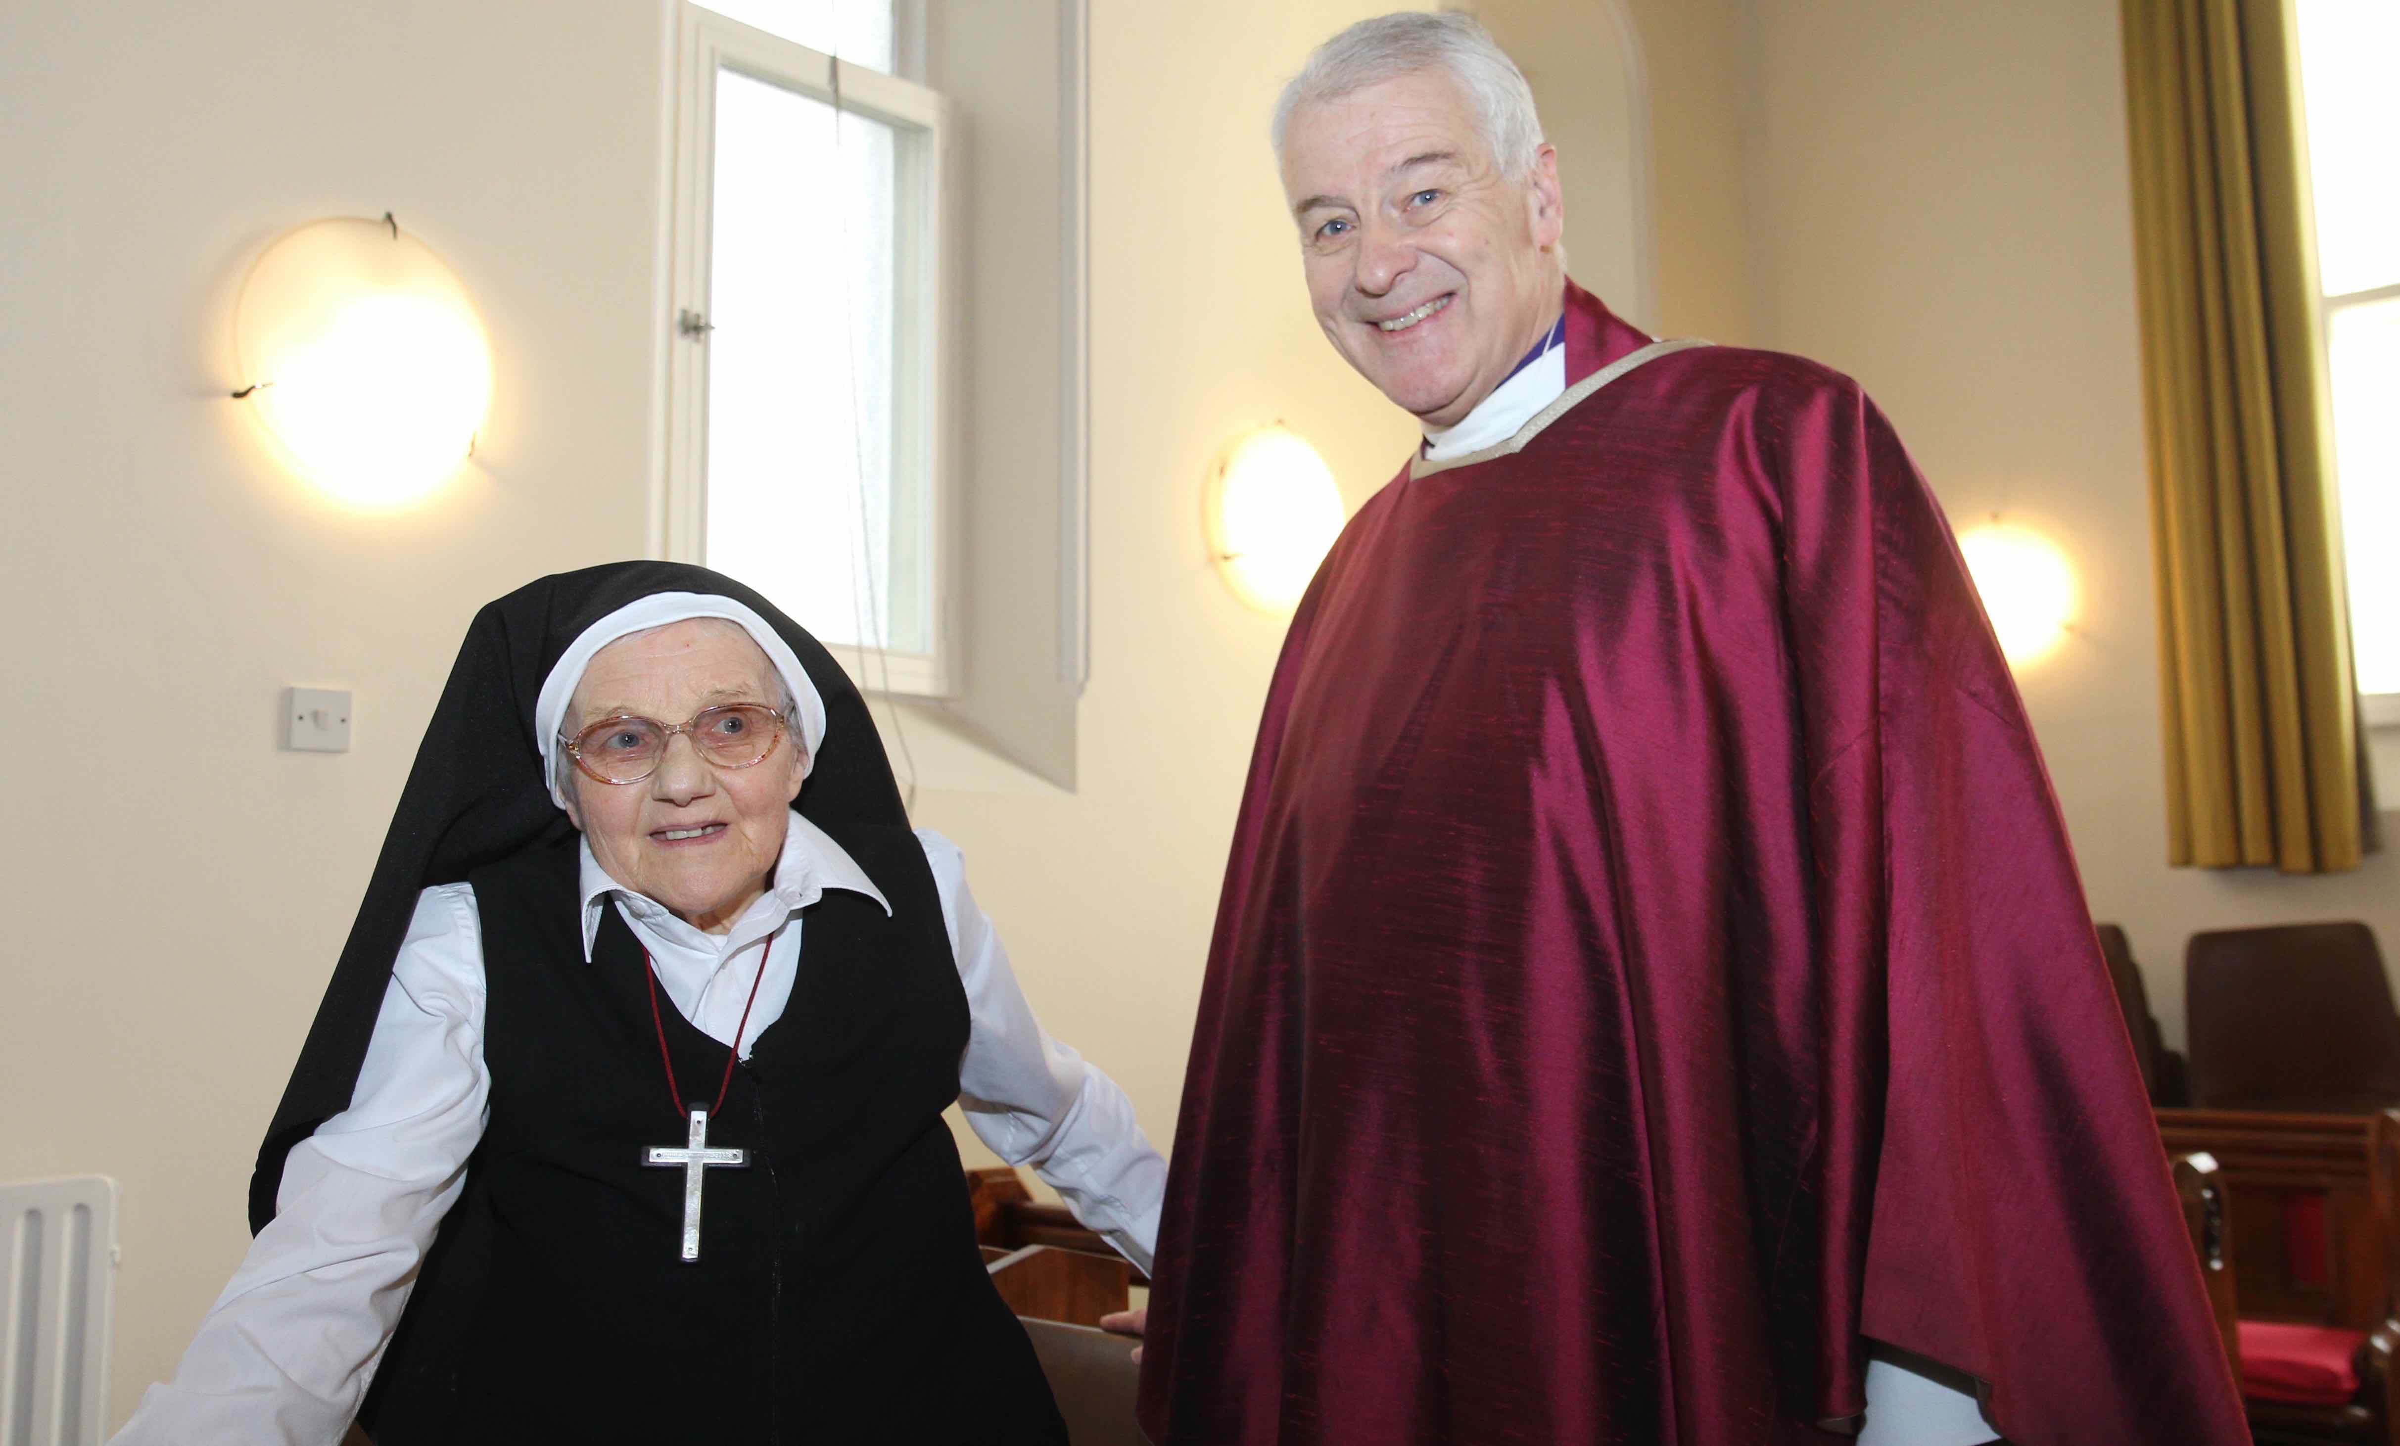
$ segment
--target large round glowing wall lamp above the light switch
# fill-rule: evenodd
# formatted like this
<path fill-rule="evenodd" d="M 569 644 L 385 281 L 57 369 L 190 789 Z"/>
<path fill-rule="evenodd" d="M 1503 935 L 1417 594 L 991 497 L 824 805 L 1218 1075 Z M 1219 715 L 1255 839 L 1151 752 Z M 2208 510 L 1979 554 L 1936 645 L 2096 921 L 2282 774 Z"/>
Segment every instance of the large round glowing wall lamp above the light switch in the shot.
<path fill-rule="evenodd" d="M 233 396 L 293 468 L 360 508 L 415 501 L 449 477 L 492 403 L 475 305 L 389 211 L 266 247 L 233 309 Z"/>

